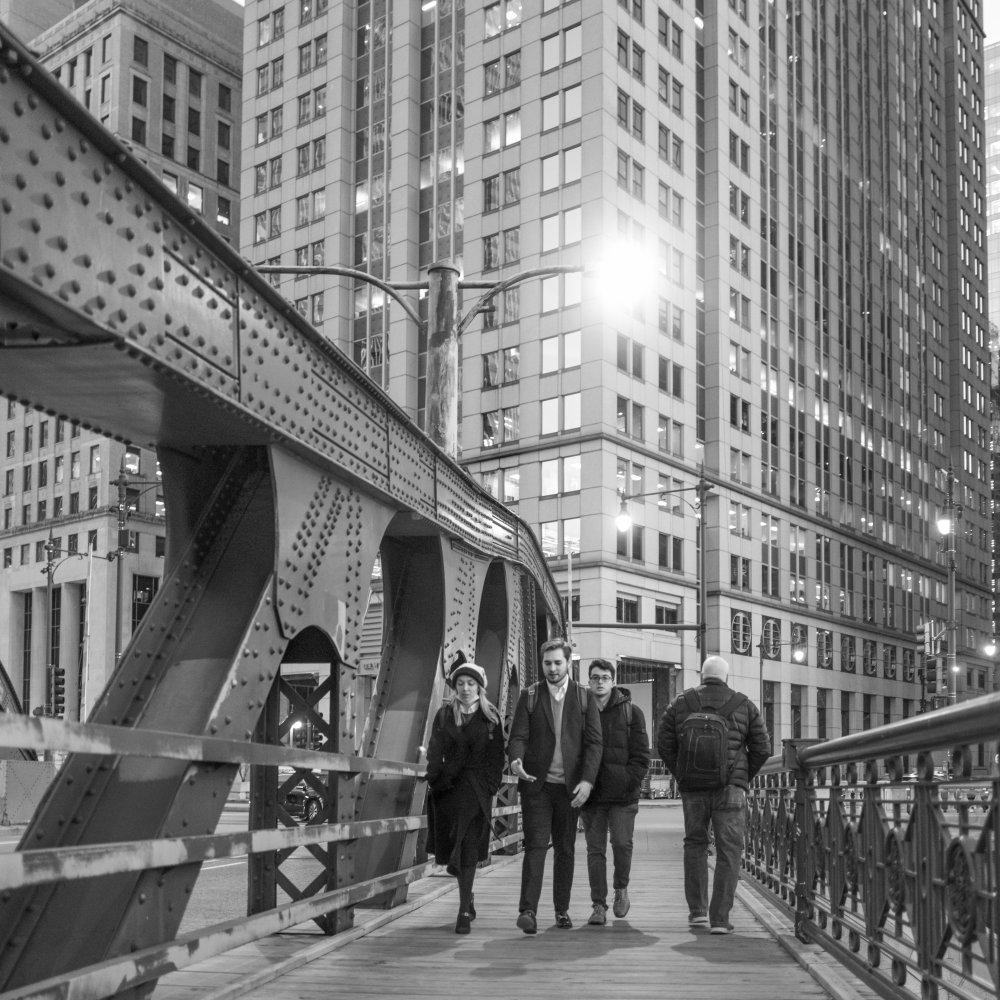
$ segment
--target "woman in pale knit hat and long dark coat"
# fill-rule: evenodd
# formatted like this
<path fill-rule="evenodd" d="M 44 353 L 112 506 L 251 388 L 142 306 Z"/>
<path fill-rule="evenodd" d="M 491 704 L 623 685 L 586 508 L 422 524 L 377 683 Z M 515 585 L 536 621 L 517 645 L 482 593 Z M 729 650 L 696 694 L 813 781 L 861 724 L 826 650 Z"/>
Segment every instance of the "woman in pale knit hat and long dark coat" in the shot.
<path fill-rule="evenodd" d="M 427 748 L 427 853 L 458 879 L 456 934 L 476 916 L 472 881 L 489 857 L 493 796 L 504 765 L 500 714 L 486 699 L 486 671 L 460 660 L 448 686 L 455 692 L 434 717 Z"/>

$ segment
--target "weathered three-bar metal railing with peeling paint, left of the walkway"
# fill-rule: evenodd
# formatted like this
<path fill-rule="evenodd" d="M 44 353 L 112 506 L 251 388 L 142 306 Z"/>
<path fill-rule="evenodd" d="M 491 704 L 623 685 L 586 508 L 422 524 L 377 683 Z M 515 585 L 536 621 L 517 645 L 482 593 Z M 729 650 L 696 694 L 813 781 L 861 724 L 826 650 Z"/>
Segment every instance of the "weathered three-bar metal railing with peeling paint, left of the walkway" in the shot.
<path fill-rule="evenodd" d="M 93 755 L 95 761 L 116 755 L 281 766 L 348 777 L 366 774 L 420 778 L 424 774 L 421 764 L 10 713 L 0 715 L 0 747 L 27 748 L 39 755 L 66 751 Z M 493 841 L 491 849 L 494 852 L 509 850 L 521 839 L 520 824 L 515 818 L 520 808 L 504 802 L 502 791 L 494 817 L 501 821 L 500 825 L 505 829 L 513 832 L 507 832 Z M 264 852 L 288 852 L 311 844 L 329 845 L 362 837 L 415 831 L 426 824 L 425 816 L 398 816 L 356 823 L 315 823 L 287 829 L 196 834 L 44 850 L 32 850 L 30 845 L 22 844 L 17 851 L 0 855 L 0 895 L 19 888 L 70 879 L 93 879 Z M 212 924 L 172 941 L 22 986 L 4 993 L 4 1000 L 38 996 L 97 1000 L 111 996 L 296 924 L 382 896 L 409 885 L 436 868 L 433 860 L 429 860 L 377 878 L 282 903 L 252 916 Z"/>

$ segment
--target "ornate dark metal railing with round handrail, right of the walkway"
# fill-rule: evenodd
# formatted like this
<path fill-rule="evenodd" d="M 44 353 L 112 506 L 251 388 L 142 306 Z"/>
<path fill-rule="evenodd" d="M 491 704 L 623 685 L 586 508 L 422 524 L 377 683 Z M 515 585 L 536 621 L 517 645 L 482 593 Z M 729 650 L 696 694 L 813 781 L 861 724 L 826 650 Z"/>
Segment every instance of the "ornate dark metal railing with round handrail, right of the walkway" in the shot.
<path fill-rule="evenodd" d="M 998 736 L 994 694 L 786 742 L 750 792 L 750 883 L 883 996 L 996 997 Z"/>

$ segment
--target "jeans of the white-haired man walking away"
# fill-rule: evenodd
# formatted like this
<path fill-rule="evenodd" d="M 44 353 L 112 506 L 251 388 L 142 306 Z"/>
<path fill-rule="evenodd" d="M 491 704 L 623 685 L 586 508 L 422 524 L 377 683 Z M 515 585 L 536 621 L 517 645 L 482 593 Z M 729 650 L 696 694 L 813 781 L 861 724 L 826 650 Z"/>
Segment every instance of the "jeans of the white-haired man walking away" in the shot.
<path fill-rule="evenodd" d="M 740 878 L 747 793 L 738 785 L 713 792 L 682 792 L 684 895 L 693 917 L 708 914 L 715 927 L 729 922 Z M 708 827 L 715 833 L 715 880 L 708 898 Z"/>

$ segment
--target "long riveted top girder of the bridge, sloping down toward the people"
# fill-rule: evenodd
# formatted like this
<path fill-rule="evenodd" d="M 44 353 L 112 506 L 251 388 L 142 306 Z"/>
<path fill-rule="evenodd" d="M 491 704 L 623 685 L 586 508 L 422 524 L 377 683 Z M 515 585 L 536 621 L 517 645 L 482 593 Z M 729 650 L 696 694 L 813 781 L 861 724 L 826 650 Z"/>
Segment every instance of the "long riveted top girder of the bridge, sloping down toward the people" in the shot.
<path fill-rule="evenodd" d="M 0 394 L 144 446 L 280 442 L 523 564 L 559 608 L 527 526 L 2 24 L 0 348 Z"/>

